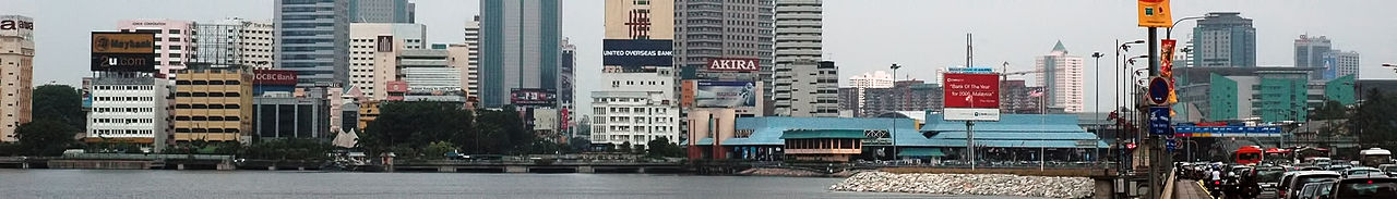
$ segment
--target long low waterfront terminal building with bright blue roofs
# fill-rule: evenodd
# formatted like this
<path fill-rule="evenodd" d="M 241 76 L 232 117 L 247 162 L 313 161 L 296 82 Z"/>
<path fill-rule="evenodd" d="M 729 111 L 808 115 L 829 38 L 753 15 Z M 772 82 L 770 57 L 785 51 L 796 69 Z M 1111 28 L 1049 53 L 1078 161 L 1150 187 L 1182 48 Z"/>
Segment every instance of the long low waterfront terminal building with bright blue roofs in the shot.
<path fill-rule="evenodd" d="M 743 160 L 964 160 L 965 122 L 939 113 L 921 118 L 743 117 L 690 114 L 690 159 Z M 1003 114 L 975 122 L 981 161 L 1094 161 L 1108 148 L 1074 114 Z M 852 136 L 862 132 L 863 136 Z M 895 139 L 895 142 L 894 142 Z M 893 148 L 897 148 L 894 154 Z M 856 154 L 854 152 L 858 152 Z"/>

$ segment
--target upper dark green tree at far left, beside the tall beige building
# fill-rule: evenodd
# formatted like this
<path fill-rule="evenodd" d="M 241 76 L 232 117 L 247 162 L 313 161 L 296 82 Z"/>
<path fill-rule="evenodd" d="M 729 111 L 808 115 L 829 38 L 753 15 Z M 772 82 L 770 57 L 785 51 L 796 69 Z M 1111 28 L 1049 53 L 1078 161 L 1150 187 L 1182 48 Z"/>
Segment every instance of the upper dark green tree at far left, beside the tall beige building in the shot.
<path fill-rule="evenodd" d="M 87 113 L 82 113 L 82 92 L 68 85 L 42 85 L 31 93 L 34 121 L 59 121 L 82 131 L 87 128 Z"/>

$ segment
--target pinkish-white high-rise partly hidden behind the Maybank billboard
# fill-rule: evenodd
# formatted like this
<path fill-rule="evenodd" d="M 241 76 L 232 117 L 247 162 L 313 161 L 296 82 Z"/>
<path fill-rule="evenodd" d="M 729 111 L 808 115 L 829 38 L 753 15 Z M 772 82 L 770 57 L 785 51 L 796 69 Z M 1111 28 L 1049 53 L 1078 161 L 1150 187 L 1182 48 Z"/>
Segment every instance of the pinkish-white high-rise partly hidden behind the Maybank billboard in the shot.
<path fill-rule="evenodd" d="M 194 56 L 194 22 L 180 19 L 123 19 L 117 29 L 155 33 L 155 77 L 175 79 L 179 70 L 198 58 Z"/>

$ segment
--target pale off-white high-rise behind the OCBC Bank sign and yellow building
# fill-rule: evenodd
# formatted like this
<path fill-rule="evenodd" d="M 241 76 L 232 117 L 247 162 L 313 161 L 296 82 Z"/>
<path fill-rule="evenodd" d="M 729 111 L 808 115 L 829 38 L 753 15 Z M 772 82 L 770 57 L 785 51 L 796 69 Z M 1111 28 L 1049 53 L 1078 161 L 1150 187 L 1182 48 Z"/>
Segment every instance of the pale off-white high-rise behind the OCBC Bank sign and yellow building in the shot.
<path fill-rule="evenodd" d="M 271 21 L 228 18 L 194 24 L 196 61 L 211 67 L 243 65 L 270 70 L 274 64 Z"/>

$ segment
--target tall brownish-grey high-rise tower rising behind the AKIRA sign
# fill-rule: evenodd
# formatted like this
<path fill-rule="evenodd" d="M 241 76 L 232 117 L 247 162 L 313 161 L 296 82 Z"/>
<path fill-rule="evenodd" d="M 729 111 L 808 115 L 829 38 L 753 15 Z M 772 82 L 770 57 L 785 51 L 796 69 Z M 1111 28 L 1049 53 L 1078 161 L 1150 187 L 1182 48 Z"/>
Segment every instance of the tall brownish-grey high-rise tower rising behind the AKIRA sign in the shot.
<path fill-rule="evenodd" d="M 774 0 L 675 0 L 675 67 L 683 79 L 760 82 L 766 107 L 774 83 Z M 710 68 L 711 61 L 754 58 L 756 67 Z M 739 110 L 740 111 L 740 110 Z M 764 116 L 764 110 L 756 114 Z"/>

